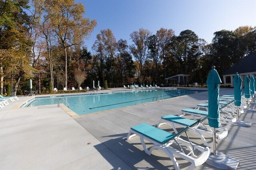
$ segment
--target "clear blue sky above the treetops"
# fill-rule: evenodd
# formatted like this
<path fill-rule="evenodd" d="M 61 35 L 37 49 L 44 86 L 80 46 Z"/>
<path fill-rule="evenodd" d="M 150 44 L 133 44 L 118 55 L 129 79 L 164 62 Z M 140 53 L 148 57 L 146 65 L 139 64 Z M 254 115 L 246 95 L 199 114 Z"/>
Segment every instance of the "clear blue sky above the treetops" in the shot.
<path fill-rule="evenodd" d="M 85 17 L 95 19 L 97 27 L 89 40 L 88 50 L 100 30 L 111 29 L 116 40 L 132 44 L 130 34 L 140 28 L 152 34 L 160 28 L 192 30 L 208 43 L 220 30 L 239 26 L 256 26 L 256 0 L 76 0 L 84 4 Z"/>

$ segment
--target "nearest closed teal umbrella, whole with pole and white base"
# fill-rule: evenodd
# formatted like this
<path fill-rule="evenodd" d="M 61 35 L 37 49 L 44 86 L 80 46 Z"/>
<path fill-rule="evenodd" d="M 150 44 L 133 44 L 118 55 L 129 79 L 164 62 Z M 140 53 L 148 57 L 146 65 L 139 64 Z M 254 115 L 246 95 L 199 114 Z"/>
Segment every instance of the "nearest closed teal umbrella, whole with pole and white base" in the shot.
<path fill-rule="evenodd" d="M 213 128 L 213 150 L 206 160 L 206 164 L 209 164 L 215 168 L 227 169 L 227 167 L 237 167 L 239 161 L 236 161 L 225 154 L 216 151 L 216 132 L 215 128 L 220 127 L 220 110 L 219 110 L 219 89 L 220 83 L 222 83 L 215 66 L 212 66 L 210 73 L 207 77 L 208 86 L 208 123 Z M 235 168 L 234 168 L 235 169 Z"/>

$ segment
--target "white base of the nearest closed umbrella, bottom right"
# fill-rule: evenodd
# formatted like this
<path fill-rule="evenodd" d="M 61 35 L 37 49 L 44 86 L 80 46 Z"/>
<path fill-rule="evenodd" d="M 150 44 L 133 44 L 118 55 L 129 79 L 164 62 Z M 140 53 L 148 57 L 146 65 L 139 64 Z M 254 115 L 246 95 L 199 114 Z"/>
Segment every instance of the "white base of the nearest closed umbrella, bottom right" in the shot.
<path fill-rule="evenodd" d="M 206 164 L 213 166 L 214 168 L 222 169 L 222 170 L 236 170 L 237 166 L 240 164 L 239 160 L 235 160 L 223 154 L 222 152 L 218 152 L 216 150 L 216 155 L 212 154 L 212 149 L 210 150 L 210 156 L 206 160 Z"/>

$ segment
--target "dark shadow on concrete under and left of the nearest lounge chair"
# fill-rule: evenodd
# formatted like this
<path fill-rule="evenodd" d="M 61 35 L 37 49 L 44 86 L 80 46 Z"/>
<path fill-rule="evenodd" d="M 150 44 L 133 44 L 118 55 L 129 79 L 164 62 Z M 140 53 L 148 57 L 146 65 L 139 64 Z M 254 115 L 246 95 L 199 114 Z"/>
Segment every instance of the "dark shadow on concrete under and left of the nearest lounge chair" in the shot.
<path fill-rule="evenodd" d="M 102 150 L 101 145 L 108 146 L 110 143 L 112 143 L 111 146 L 108 146 L 108 149 L 110 149 L 111 152 L 118 156 L 120 160 L 125 162 L 127 166 L 129 166 L 131 169 L 174 169 L 172 161 L 164 152 L 162 152 L 161 150 L 154 150 L 149 156 L 144 152 L 142 144 L 140 142 L 140 138 L 138 136 L 134 136 L 130 140 L 126 140 L 127 134 L 128 133 L 103 136 L 120 137 L 110 139 L 106 142 L 94 146 L 98 150 L 98 152 L 100 152 L 100 154 L 114 167 L 113 169 L 127 168 L 125 168 L 125 165 L 121 165 L 120 162 L 116 161 L 116 159 L 113 159 L 108 152 Z M 153 146 L 153 144 L 150 142 L 146 142 L 146 144 L 148 148 Z M 176 158 L 176 160 L 179 163 L 180 169 L 186 169 L 190 165 L 189 162 L 182 158 Z M 204 164 L 204 168 L 212 169 L 211 166 L 208 166 L 206 164 Z"/>

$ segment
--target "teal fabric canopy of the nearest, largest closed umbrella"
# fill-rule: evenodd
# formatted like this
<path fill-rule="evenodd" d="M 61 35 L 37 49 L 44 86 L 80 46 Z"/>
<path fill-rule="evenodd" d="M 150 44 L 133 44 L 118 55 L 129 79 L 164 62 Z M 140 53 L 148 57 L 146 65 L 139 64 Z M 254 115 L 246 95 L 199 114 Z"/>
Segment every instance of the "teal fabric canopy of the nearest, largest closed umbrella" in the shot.
<path fill-rule="evenodd" d="M 208 123 L 210 127 L 219 128 L 220 127 L 220 109 L 219 109 L 219 90 L 220 83 L 222 83 L 220 76 L 212 66 L 207 77 L 208 86 Z"/>

